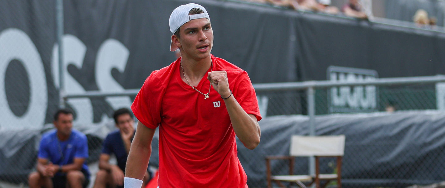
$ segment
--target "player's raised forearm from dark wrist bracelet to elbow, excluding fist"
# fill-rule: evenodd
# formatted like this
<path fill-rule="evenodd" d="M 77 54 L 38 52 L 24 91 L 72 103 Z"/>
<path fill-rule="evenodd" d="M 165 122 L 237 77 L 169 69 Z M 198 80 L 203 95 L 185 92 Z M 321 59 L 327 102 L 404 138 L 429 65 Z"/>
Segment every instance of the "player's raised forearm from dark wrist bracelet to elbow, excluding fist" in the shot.
<path fill-rule="evenodd" d="M 259 144 L 261 135 L 258 122 L 244 111 L 233 95 L 224 100 L 224 103 L 236 136 L 246 148 L 255 149 Z"/>

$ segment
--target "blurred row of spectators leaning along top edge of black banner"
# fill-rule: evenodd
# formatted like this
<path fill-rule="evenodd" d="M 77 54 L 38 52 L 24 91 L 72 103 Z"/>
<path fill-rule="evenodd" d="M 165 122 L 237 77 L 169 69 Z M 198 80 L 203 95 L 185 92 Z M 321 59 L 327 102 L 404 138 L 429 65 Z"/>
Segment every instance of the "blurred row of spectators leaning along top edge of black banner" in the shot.
<path fill-rule="evenodd" d="M 368 16 L 361 7 L 359 0 L 349 0 L 341 9 L 331 5 L 331 0 L 245 0 L 252 3 L 270 4 L 295 10 L 308 10 L 314 12 L 324 12 L 328 14 L 343 13 L 360 19 L 368 19 Z"/>

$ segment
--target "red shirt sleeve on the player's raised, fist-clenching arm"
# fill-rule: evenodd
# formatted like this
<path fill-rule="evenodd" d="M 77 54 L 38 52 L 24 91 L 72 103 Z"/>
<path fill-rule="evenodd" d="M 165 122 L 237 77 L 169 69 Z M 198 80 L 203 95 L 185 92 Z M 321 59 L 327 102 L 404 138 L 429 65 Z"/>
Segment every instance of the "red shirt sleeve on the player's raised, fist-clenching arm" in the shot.
<path fill-rule="evenodd" d="M 259 113 L 258 100 L 256 98 L 255 89 L 251 83 L 247 72 L 243 71 L 236 80 L 235 88 L 232 89 L 232 94 L 238 101 L 239 105 L 247 114 L 252 114 L 259 121 L 262 119 Z"/>

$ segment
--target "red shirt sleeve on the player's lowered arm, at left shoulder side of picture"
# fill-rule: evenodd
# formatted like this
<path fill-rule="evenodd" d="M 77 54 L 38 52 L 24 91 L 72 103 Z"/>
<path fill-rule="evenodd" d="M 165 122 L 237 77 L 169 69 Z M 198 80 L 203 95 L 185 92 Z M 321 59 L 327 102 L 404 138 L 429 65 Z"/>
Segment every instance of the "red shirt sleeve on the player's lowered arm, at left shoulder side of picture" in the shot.
<path fill-rule="evenodd" d="M 154 75 L 145 80 L 131 105 L 134 116 L 148 128 L 157 128 L 161 123 L 162 81 Z"/>

